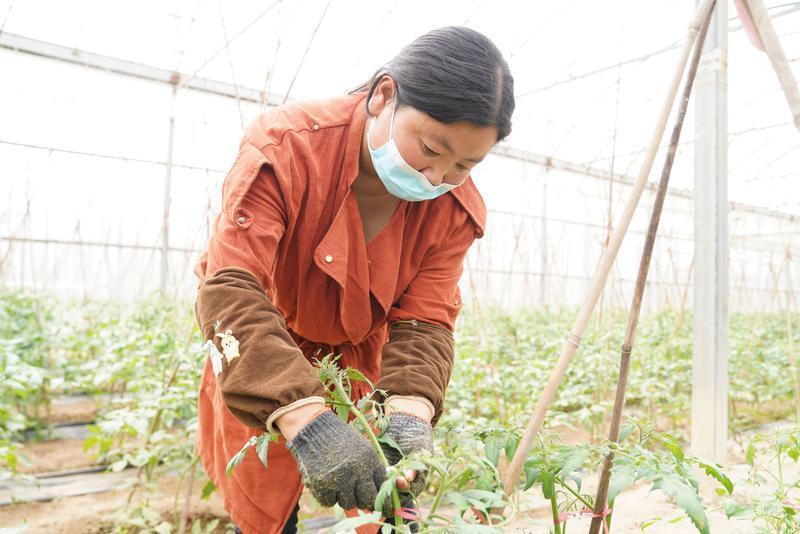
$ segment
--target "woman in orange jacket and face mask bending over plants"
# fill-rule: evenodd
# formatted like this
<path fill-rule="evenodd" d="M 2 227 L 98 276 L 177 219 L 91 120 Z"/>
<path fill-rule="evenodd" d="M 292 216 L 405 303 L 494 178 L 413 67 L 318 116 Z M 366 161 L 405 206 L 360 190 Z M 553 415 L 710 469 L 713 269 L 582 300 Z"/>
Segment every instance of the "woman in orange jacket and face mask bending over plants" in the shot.
<path fill-rule="evenodd" d="M 367 440 L 325 408 L 318 354 L 342 354 L 388 392 L 403 454 L 432 450 L 457 282 L 485 223 L 469 174 L 509 134 L 513 109 L 499 50 L 448 27 L 351 94 L 280 106 L 246 130 L 195 267 L 198 323 L 225 352 L 205 364 L 198 449 L 242 531 L 294 532 L 304 484 L 324 506 L 371 509 L 385 479 Z M 353 397 L 363 393 L 356 382 Z M 280 434 L 268 469 L 250 454 L 226 476 L 265 430 Z M 400 489 L 421 491 L 407 475 Z"/>

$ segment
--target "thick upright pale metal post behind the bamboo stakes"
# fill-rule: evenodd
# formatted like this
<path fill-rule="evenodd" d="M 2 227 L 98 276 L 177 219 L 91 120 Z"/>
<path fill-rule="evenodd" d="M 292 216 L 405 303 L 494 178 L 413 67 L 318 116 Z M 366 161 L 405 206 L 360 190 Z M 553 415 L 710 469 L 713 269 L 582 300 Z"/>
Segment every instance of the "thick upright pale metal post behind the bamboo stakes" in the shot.
<path fill-rule="evenodd" d="M 728 4 L 711 20 L 695 100 L 692 453 L 725 461 L 728 438 Z"/>

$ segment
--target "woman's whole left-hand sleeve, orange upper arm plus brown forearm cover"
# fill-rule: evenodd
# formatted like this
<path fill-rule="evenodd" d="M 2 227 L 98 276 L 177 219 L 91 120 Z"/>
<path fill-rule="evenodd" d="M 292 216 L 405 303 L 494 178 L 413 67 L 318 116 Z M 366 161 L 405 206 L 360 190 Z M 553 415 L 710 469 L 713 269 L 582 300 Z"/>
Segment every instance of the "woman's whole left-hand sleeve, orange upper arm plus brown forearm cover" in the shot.
<path fill-rule="evenodd" d="M 213 340 L 218 350 L 217 332 L 230 330 L 238 340 L 239 357 L 223 358 L 217 382 L 231 412 L 246 425 L 264 429 L 275 410 L 322 397 L 324 389 L 268 296 L 274 294 L 274 261 L 287 215 L 272 170 L 263 166 L 258 172 L 241 209 L 217 218 L 195 312 L 203 339 Z"/>

